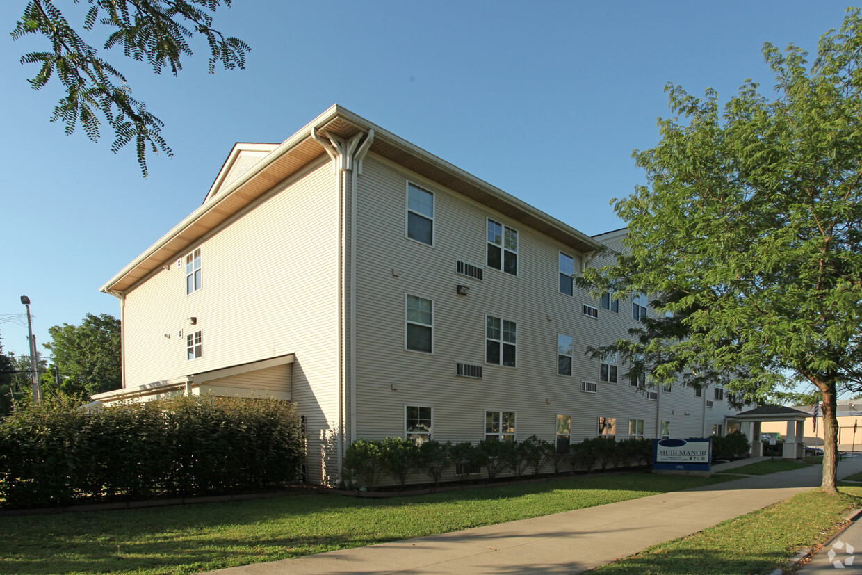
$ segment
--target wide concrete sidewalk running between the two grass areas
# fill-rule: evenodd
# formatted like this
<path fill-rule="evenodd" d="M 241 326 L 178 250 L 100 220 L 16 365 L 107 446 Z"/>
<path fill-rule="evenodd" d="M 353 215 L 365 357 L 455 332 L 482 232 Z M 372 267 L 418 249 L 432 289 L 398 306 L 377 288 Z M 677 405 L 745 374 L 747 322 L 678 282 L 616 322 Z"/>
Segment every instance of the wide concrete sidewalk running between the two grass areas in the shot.
<path fill-rule="evenodd" d="M 753 460 L 759 459 L 748 459 L 741 465 Z M 862 472 L 862 459 L 840 462 L 839 478 L 856 472 Z M 778 503 L 820 482 L 821 467 L 810 466 L 551 516 L 233 567 L 217 573 L 579 572 Z"/>

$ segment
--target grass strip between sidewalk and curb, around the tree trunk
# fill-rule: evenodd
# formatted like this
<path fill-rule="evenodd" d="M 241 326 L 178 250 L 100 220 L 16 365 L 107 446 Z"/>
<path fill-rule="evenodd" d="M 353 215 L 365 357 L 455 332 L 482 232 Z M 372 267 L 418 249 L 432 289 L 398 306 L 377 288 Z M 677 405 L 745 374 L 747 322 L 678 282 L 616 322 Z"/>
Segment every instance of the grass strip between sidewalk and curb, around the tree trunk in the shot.
<path fill-rule="evenodd" d="M 828 541 L 848 509 L 862 506 L 862 487 L 839 495 L 806 491 L 766 509 L 665 543 L 606 566 L 601 575 L 738 575 L 768 573 L 802 547 Z"/>

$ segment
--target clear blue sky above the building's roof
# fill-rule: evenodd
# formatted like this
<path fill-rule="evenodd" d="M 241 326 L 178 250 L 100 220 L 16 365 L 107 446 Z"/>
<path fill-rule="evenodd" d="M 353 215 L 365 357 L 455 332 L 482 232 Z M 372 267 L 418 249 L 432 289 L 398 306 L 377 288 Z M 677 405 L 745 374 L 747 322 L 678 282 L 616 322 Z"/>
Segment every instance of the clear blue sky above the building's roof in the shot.
<path fill-rule="evenodd" d="M 4 31 L 25 4 L 0 4 Z M 587 234 L 621 228 L 609 201 L 643 183 L 631 152 L 656 143 L 666 82 L 771 91 L 763 43 L 815 53 L 846 5 L 234 0 L 215 28 L 252 45 L 246 70 L 208 75 L 199 42 L 178 78 L 108 55 L 166 123 L 174 157 L 150 157 L 146 180 L 108 129 L 93 144 L 47 121 L 59 84 L 31 90 L 35 67 L 19 63 L 44 44 L 2 34 L 0 321 L 26 294 L 41 347 L 50 326 L 119 316 L 99 286 L 200 205 L 234 142 L 284 141 L 332 103 Z M 27 353 L 25 327 L 0 334 Z"/>

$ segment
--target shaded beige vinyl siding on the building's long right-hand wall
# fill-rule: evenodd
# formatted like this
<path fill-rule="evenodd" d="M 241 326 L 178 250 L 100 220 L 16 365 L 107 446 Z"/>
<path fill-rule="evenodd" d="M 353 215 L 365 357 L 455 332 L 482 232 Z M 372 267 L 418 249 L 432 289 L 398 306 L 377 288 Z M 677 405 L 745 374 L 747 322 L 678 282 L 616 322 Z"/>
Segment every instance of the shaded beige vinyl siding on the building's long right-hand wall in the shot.
<path fill-rule="evenodd" d="M 405 237 L 408 181 L 434 192 L 434 246 Z M 598 383 L 599 362 L 586 347 L 625 337 L 637 322 L 628 300 L 617 314 L 600 309 L 595 320 L 582 305 L 599 307 L 596 300 L 577 286 L 573 297 L 559 293 L 559 251 L 574 256 L 576 274 L 583 254 L 372 154 L 359 177 L 358 217 L 357 437 L 403 434 L 406 405 L 434 408 L 440 441 L 482 439 L 486 409 L 515 411 L 518 441 L 531 434 L 553 441 L 557 414 L 572 416 L 572 441 L 595 436 L 598 416 L 616 417 L 620 437 L 629 418 L 643 419 L 647 436 L 662 419 L 674 422 L 674 435 L 688 433 L 690 425 L 676 423 L 685 410 L 692 421 L 698 415 L 699 427 L 702 400 L 691 390 L 647 401 L 622 365 L 618 383 Z M 486 266 L 488 217 L 518 231 L 517 277 Z M 482 266 L 484 280 L 457 274 L 456 259 Z M 469 294 L 456 294 L 456 284 L 470 286 Z M 407 294 L 434 302 L 434 353 L 404 349 Z M 517 322 L 515 368 L 484 363 L 486 315 Z M 557 334 L 574 339 L 571 377 L 557 374 Z M 456 377 L 456 361 L 482 365 L 484 377 Z M 597 382 L 598 392 L 582 392 L 581 381 Z M 679 415 L 665 417 L 665 409 Z"/>

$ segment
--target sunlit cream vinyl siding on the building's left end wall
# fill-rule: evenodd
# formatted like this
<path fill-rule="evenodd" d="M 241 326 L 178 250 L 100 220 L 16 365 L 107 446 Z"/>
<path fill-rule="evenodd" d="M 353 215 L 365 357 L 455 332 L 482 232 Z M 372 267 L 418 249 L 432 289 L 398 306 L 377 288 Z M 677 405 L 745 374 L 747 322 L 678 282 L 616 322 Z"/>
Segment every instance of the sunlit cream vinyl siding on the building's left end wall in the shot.
<path fill-rule="evenodd" d="M 184 260 L 128 292 L 126 385 L 147 384 L 295 353 L 293 399 L 307 427 L 334 425 L 337 404 L 338 200 L 331 165 L 318 164 L 187 251 L 203 248 L 203 287 L 185 294 Z M 191 238 L 190 238 L 191 241 Z M 187 318 L 197 318 L 189 325 Z M 200 330 L 203 355 L 186 360 Z M 170 334 L 170 338 L 166 338 Z M 310 434 L 310 433 L 309 433 Z M 317 435 L 309 453 L 319 450 Z M 314 460 L 309 456 L 309 460 Z M 321 470 L 309 466 L 309 479 Z"/>

